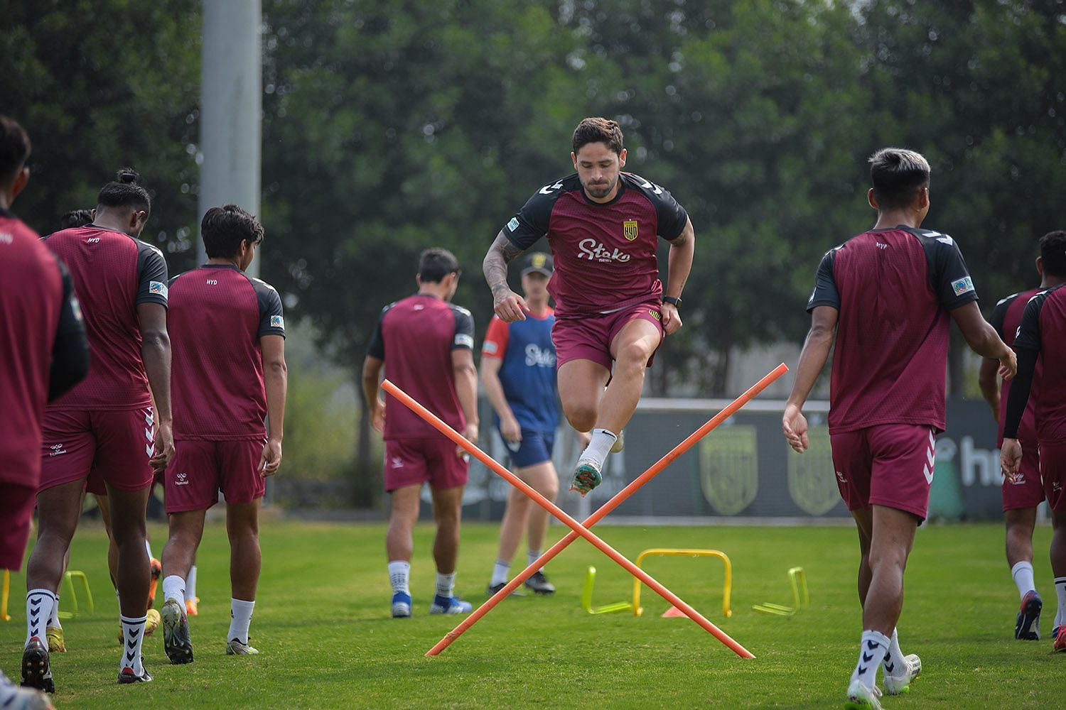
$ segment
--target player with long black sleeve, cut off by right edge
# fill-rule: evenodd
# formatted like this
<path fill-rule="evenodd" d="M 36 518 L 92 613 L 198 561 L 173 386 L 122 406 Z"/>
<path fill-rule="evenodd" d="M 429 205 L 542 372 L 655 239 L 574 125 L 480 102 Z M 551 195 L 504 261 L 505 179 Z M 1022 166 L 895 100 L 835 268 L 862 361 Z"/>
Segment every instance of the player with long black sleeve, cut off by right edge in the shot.
<path fill-rule="evenodd" d="M 1066 261 L 1066 232 L 1052 232 L 1048 236 L 1051 249 L 1057 252 L 1056 263 L 1062 264 Z M 1045 255 L 1045 273 L 1048 268 Z M 1024 445 L 1019 443 L 1019 432 L 1032 399 L 1040 479 L 1051 508 L 1053 528 L 1051 572 L 1055 576 L 1059 612 L 1051 631 L 1052 647 L 1066 651 L 1066 494 L 1063 493 L 1066 485 L 1066 283 L 1041 291 L 1029 300 L 1014 347 L 1018 351 L 1018 377 L 1007 396 L 1001 463 L 1007 476 L 1016 477 L 1021 470 Z M 1038 362 L 1041 365 L 1039 386 L 1034 389 Z"/>

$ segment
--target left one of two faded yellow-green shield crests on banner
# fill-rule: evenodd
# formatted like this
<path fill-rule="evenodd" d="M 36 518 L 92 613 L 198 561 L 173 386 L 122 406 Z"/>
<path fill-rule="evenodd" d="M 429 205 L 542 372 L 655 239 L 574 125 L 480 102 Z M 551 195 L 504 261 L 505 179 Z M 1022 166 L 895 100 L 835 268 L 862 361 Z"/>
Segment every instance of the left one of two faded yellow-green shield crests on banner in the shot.
<path fill-rule="evenodd" d="M 755 427 L 727 427 L 699 442 L 699 482 L 718 515 L 736 515 L 750 506 L 759 492 Z"/>

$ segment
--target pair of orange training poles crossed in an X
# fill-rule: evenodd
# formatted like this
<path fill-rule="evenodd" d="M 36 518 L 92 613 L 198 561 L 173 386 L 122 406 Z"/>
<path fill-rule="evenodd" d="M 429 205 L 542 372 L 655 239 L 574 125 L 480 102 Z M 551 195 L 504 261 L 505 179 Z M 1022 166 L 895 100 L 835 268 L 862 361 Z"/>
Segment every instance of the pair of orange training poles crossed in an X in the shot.
<path fill-rule="evenodd" d="M 771 382 L 779 378 L 781 375 L 788 371 L 788 367 L 785 363 L 781 363 L 770 371 L 765 377 L 759 380 L 757 383 L 752 385 L 740 397 L 734 399 L 728 407 L 714 415 L 706 424 L 704 424 L 699 429 L 694 431 L 688 439 L 675 446 L 666 456 L 657 461 L 650 468 L 645 470 L 643 474 L 637 476 L 629 485 L 619 491 L 613 498 L 608 500 L 603 506 L 597 510 L 595 513 L 589 515 L 584 523 L 578 523 L 576 519 L 563 512 L 558 506 L 545 498 L 538 492 L 534 491 L 528 483 L 512 474 L 510 470 L 500 465 L 492 457 L 488 456 L 475 445 L 467 441 L 465 436 L 452 429 L 450 426 L 445 424 L 437 417 L 433 412 L 425 409 L 422 404 L 411 398 L 407 393 L 400 390 L 397 385 L 392 384 L 389 380 L 382 382 L 382 389 L 387 393 L 399 399 L 404 406 L 409 408 L 416 414 L 425 419 L 430 425 L 436 428 L 440 433 L 448 436 L 450 440 L 455 442 L 458 446 L 463 447 L 474 456 L 479 461 L 484 463 L 490 470 L 502 477 L 508 483 L 517 488 L 519 491 L 524 493 L 527 496 L 532 498 L 538 506 L 547 510 L 549 513 L 559 518 L 560 522 L 565 524 L 570 528 L 571 532 L 567 533 L 565 538 L 560 540 L 558 543 L 551 546 L 544 555 L 542 555 L 533 564 L 529 565 L 519 574 L 517 577 L 512 579 L 501 589 L 499 592 L 492 595 L 487 601 L 481 605 L 478 609 L 473 611 L 469 616 L 467 616 L 463 622 L 456 626 L 454 629 L 448 632 L 443 639 L 437 642 L 437 644 L 426 651 L 426 656 L 437 656 L 447 648 L 453 641 L 458 639 L 463 633 L 469 629 L 471 626 L 477 624 L 482 616 L 491 611 L 492 607 L 498 605 L 500 601 L 505 599 L 513 591 L 515 591 L 522 582 L 533 576 L 533 574 L 547 564 L 553 557 L 559 555 L 566 548 L 567 545 L 572 543 L 579 536 L 587 540 L 593 546 L 597 547 L 601 552 L 610 557 L 612 560 L 617 562 L 624 569 L 629 572 L 631 575 L 640 579 L 642 582 L 647 584 L 651 590 L 653 590 L 661 597 L 669 601 L 672 605 L 677 607 L 679 610 L 684 612 L 684 615 L 699 624 L 707 631 L 713 634 L 718 641 L 728 646 L 734 654 L 741 658 L 755 658 L 749 650 L 744 648 L 736 641 L 733 641 L 729 634 L 716 627 L 710 621 L 705 618 L 702 614 L 685 604 L 680 597 L 671 592 L 668 589 L 656 581 L 650 575 L 637 567 L 635 564 L 630 562 L 620 552 L 615 550 L 613 547 L 608 545 L 605 542 L 600 540 L 598 536 L 588 531 L 588 528 L 596 525 L 600 519 L 608 515 L 615 508 L 620 506 L 627 498 L 629 498 L 633 493 L 637 491 L 642 485 L 647 483 L 649 480 L 655 478 L 663 468 L 673 463 L 678 457 L 688 451 L 692 446 L 698 442 L 700 439 L 706 436 L 712 429 L 717 427 L 720 424 L 732 416 L 738 410 L 740 410 L 744 404 L 750 401 L 756 395 L 766 389 Z"/>

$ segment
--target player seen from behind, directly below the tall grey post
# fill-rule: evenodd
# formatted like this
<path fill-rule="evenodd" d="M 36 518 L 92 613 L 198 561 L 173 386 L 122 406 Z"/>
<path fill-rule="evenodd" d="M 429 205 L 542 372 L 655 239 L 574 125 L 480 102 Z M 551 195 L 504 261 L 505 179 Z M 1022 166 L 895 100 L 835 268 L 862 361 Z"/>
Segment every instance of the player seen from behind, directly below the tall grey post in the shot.
<path fill-rule="evenodd" d="M 236 204 L 200 222 L 208 262 L 171 281 L 175 452 L 166 469 L 171 535 L 163 550 L 163 645 L 190 663 L 185 578 L 207 509 L 226 496 L 230 599 L 226 653 L 252 655 L 248 625 L 259 582 L 259 503 L 281 464 L 285 431 L 285 317 L 265 281 L 247 276 L 259 221 Z M 269 415 L 270 433 L 263 425 Z"/>

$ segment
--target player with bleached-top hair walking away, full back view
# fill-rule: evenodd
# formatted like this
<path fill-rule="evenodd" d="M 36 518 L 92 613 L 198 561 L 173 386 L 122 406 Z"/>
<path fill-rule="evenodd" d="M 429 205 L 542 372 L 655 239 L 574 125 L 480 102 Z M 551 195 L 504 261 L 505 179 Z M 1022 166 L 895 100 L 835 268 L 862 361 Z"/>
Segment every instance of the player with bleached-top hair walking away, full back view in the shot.
<path fill-rule="evenodd" d="M 836 335 L 829 441 L 862 555 L 863 631 L 847 696 L 854 707 L 879 708 L 874 688 L 883 662 L 888 694 L 904 692 L 921 672 L 921 660 L 900 650 L 895 623 L 903 569 L 928 507 L 934 437 L 944 428 L 950 320 L 979 354 L 1000 361 L 1005 377 L 1014 374 L 1015 358 L 981 316 L 955 241 L 920 229 L 930 208 L 928 163 L 885 148 L 870 164 L 868 200 L 877 224 L 822 259 L 781 426 L 792 448 L 807 449 L 803 404 Z"/>

